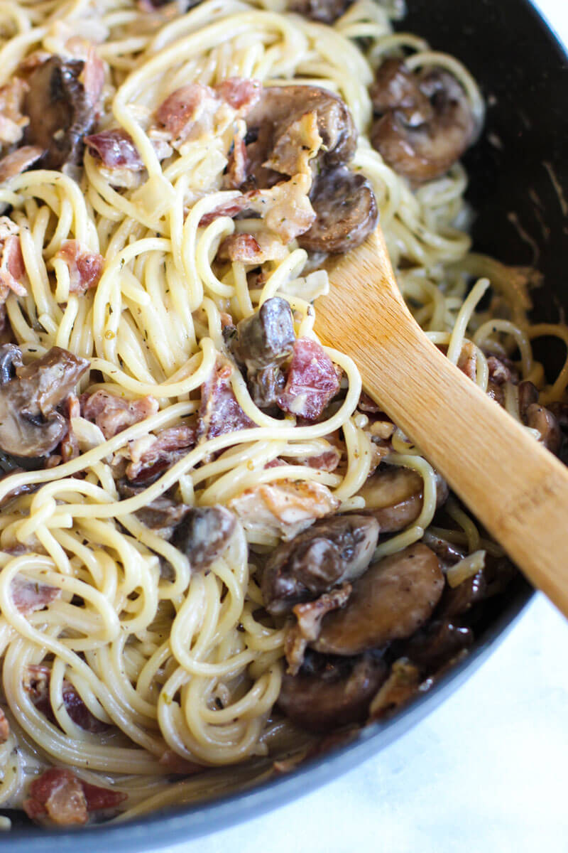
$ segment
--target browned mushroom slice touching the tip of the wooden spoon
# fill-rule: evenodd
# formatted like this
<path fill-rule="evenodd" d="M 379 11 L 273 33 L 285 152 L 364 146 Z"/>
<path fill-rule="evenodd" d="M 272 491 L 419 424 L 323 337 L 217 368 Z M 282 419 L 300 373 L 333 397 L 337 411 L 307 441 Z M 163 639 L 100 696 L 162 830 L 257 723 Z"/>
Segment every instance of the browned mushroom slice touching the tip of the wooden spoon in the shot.
<path fill-rule="evenodd" d="M 347 166 L 321 172 L 310 201 L 316 221 L 298 237 L 300 246 L 309 252 L 348 252 L 376 226 L 379 214 L 370 181 Z"/>

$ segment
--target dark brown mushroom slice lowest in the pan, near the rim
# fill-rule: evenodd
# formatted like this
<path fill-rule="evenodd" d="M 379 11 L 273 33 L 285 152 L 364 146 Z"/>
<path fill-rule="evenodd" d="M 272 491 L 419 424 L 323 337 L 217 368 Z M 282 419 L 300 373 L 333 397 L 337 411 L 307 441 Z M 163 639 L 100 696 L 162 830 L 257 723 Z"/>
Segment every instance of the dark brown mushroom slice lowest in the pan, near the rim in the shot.
<path fill-rule="evenodd" d="M 330 659 L 311 655 L 297 676 L 284 675 L 278 708 L 308 731 L 324 732 L 363 722 L 387 677 L 382 659 Z"/>

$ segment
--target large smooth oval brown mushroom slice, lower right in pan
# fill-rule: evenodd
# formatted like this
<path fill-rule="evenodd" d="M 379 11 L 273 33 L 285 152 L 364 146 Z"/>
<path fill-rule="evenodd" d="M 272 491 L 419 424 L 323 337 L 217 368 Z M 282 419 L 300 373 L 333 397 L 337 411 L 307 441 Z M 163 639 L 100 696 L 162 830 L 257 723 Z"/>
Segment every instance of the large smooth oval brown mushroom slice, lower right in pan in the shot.
<path fill-rule="evenodd" d="M 353 583 L 343 610 L 324 617 L 313 648 L 353 655 L 414 634 L 444 589 L 438 557 L 422 543 L 385 557 Z"/>

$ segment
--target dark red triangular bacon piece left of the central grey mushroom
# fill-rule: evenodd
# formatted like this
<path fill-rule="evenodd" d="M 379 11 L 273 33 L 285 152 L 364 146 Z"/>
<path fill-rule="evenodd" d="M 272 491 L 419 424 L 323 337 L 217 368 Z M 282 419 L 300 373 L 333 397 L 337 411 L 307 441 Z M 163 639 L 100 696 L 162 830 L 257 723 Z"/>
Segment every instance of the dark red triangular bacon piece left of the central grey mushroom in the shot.
<path fill-rule="evenodd" d="M 198 415 L 198 437 L 215 438 L 226 432 L 255 427 L 245 415 L 232 392 L 232 363 L 222 356 L 217 357 L 215 368 L 201 391 Z"/>

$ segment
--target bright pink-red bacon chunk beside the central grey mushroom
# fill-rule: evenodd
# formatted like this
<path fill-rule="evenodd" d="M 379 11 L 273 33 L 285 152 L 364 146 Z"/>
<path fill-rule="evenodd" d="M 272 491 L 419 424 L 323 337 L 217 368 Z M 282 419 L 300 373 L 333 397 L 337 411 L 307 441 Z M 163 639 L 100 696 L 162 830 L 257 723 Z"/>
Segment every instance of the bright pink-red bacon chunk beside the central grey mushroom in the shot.
<path fill-rule="evenodd" d="M 298 338 L 284 392 L 278 397 L 280 409 L 316 421 L 338 391 L 336 368 L 324 348 L 310 338 Z"/>

